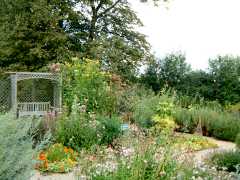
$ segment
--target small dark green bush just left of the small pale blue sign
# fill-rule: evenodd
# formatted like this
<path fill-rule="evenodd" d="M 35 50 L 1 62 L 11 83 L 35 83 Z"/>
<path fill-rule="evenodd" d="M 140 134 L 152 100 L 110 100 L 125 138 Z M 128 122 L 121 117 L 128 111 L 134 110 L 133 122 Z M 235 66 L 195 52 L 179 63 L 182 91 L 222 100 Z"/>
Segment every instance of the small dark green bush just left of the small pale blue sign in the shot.
<path fill-rule="evenodd" d="M 100 122 L 98 126 L 98 134 L 101 139 L 100 144 L 109 145 L 114 139 L 120 136 L 121 124 L 119 118 L 99 117 L 97 121 Z"/>

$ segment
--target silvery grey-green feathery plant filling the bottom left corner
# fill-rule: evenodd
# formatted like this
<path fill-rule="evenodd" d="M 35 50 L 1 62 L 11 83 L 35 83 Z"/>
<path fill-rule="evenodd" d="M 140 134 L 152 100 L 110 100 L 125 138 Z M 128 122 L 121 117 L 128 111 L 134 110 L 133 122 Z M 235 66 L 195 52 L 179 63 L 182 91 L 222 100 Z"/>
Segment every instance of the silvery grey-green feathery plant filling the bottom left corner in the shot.
<path fill-rule="evenodd" d="M 0 116 L 0 179 L 26 180 L 32 170 L 31 119 Z"/>

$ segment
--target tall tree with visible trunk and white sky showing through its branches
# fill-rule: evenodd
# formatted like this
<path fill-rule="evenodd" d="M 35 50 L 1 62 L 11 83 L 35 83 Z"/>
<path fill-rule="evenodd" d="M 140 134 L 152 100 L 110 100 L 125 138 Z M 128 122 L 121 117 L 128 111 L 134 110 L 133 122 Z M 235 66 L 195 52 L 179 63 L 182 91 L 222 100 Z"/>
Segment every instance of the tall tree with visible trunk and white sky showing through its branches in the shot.
<path fill-rule="evenodd" d="M 127 0 L 77 0 L 75 16 L 66 23 L 76 50 L 99 59 L 108 70 L 134 74 L 148 56 L 145 36 L 136 31 L 142 23 Z"/>

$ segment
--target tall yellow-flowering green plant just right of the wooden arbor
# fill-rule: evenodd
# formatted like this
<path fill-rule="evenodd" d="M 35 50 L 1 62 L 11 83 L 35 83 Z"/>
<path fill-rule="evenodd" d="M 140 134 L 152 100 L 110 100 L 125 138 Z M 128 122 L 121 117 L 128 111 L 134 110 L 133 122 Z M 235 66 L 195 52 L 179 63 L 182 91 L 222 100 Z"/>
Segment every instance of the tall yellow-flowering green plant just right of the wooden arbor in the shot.
<path fill-rule="evenodd" d="M 62 73 L 64 104 L 69 111 L 77 97 L 88 112 L 114 113 L 116 97 L 111 75 L 101 70 L 99 61 L 73 58 L 63 65 Z"/>

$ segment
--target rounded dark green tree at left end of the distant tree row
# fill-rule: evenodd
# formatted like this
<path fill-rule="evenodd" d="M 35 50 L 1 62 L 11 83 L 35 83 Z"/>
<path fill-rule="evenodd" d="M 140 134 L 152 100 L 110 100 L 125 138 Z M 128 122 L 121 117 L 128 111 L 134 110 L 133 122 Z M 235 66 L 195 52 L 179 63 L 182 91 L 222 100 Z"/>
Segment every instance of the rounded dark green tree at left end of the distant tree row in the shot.
<path fill-rule="evenodd" d="M 186 63 L 185 55 L 169 54 L 162 59 L 151 61 L 142 75 L 142 81 L 154 91 L 159 91 L 165 86 L 182 91 L 190 71 L 191 67 Z"/>

